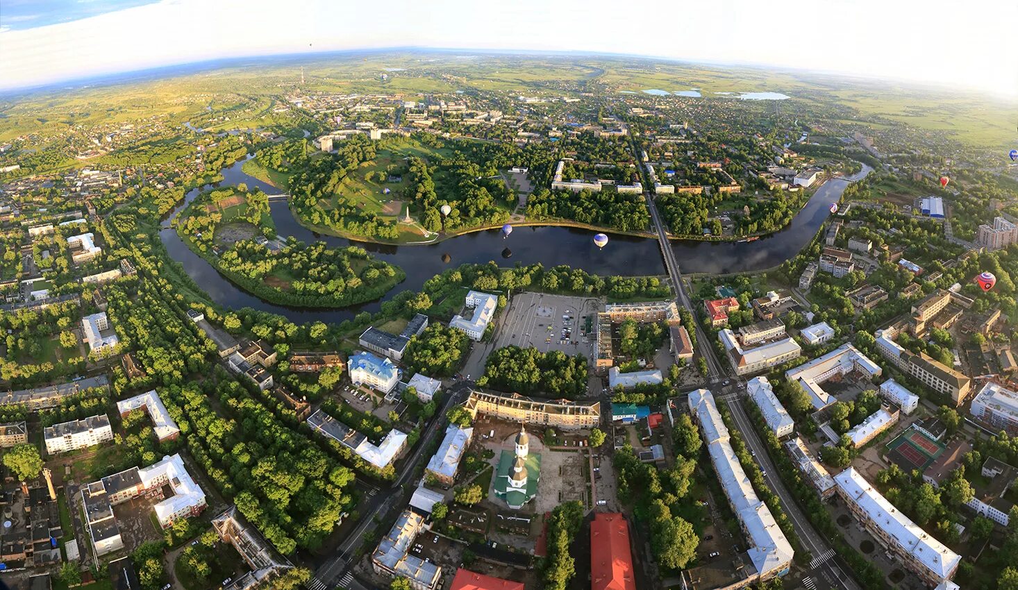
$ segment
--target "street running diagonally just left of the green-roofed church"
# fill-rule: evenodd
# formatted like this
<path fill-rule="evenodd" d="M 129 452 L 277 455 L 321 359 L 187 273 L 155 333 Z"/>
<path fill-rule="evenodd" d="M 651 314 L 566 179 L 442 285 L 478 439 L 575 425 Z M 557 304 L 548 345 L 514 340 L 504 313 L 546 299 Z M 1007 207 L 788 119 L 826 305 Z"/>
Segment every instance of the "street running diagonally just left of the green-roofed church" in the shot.
<path fill-rule="evenodd" d="M 307 581 L 306 586 L 310 590 L 325 590 L 326 588 L 334 587 L 340 582 L 342 582 L 344 588 L 360 590 L 359 584 L 356 584 L 356 581 L 347 572 L 348 567 L 352 564 L 353 556 L 357 552 L 357 548 L 363 543 L 364 536 L 372 530 L 373 526 L 385 522 L 389 511 L 402 505 L 405 495 L 403 493 L 403 486 L 416 470 L 417 463 L 420 461 L 420 456 L 425 449 L 429 449 L 435 436 L 439 432 L 442 432 L 442 428 L 439 425 L 445 423 L 443 416 L 445 416 L 446 411 L 454 404 L 465 401 L 472 386 L 473 381 L 463 380 L 449 388 L 445 402 L 435 413 L 432 423 L 421 433 L 416 450 L 403 462 L 402 470 L 399 472 L 396 480 L 386 489 L 369 488 L 369 492 L 365 494 L 366 501 L 361 503 L 359 507 L 360 519 L 346 539 L 336 547 L 336 554 L 324 562 L 316 570 L 315 576 Z M 344 574 L 346 575 L 344 576 Z"/>

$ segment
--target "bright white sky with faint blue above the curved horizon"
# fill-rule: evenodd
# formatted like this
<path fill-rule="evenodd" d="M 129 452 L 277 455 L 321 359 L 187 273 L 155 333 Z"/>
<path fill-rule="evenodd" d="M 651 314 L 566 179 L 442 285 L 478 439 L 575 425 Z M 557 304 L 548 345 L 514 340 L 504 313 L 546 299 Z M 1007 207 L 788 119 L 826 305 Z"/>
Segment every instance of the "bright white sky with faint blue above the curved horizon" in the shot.
<path fill-rule="evenodd" d="M 1015 0 L 0 0 L 0 90 L 216 58 L 421 47 L 622 53 L 1018 100 Z"/>

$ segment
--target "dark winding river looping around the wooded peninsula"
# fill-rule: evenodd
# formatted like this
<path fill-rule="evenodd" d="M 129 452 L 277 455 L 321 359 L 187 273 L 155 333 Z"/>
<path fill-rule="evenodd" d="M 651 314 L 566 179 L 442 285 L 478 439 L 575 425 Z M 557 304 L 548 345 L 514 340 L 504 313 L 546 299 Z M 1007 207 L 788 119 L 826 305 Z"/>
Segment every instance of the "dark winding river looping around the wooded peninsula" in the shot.
<path fill-rule="evenodd" d="M 267 194 L 281 191 L 241 170 L 242 162 L 223 169 L 221 185 L 235 185 L 243 182 L 249 188 L 259 188 Z M 701 242 L 679 240 L 672 242 L 675 255 L 683 273 L 736 273 L 768 269 L 798 252 L 816 233 L 821 224 L 830 215 L 832 202 L 841 198 L 851 180 L 862 178 L 871 169 L 850 179 L 829 180 L 810 198 L 809 202 L 795 217 L 785 230 L 753 242 Z M 377 258 L 399 266 L 406 273 L 406 281 L 387 293 L 381 300 L 342 309 L 308 309 L 275 305 L 259 299 L 241 290 L 223 278 L 209 262 L 190 251 L 170 222 L 183 211 L 200 192 L 211 188 L 205 186 L 189 191 L 183 202 L 177 205 L 163 221 L 160 239 L 169 251 L 170 257 L 180 262 L 187 275 L 205 290 L 216 303 L 231 309 L 252 307 L 283 315 L 294 322 L 322 320 L 339 322 L 349 319 L 360 311 L 378 311 L 381 301 L 385 301 L 403 290 L 417 291 L 425 281 L 445 269 L 464 262 L 488 262 L 495 260 L 502 266 L 516 262 L 531 264 L 541 262 L 546 268 L 568 264 L 583 269 L 588 273 L 609 275 L 664 275 L 665 264 L 658 242 L 652 238 L 635 238 L 612 235 L 604 249 L 593 245 L 595 232 L 563 227 L 519 227 L 506 239 L 499 230 L 488 230 L 464 234 L 437 244 L 394 246 L 360 242 L 336 236 L 321 235 L 297 223 L 283 199 L 270 200 L 270 209 L 276 230 L 281 236 L 294 236 L 303 242 L 323 240 L 331 246 L 355 245 L 372 252 Z"/>

